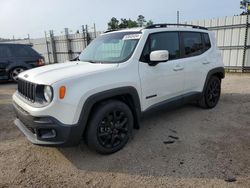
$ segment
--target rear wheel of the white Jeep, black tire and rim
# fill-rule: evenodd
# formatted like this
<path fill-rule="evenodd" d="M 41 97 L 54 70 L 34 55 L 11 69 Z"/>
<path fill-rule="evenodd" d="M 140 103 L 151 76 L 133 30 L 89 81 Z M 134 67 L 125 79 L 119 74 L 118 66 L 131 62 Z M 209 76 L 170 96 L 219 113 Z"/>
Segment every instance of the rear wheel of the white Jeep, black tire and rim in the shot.
<path fill-rule="evenodd" d="M 214 108 L 220 99 L 220 94 L 221 80 L 217 76 L 212 76 L 203 91 L 202 98 L 198 101 L 199 106 L 206 109 Z"/>

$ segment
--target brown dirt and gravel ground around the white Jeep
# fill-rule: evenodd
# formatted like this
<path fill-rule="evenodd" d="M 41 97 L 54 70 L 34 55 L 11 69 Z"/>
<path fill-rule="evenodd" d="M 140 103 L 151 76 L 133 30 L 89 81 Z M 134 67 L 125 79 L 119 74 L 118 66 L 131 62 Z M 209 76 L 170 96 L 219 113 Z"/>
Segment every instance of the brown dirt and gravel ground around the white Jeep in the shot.
<path fill-rule="evenodd" d="M 186 105 L 144 119 L 129 144 L 109 156 L 89 151 L 84 143 L 73 148 L 30 144 L 13 124 L 15 87 L 0 85 L 0 187 L 250 185 L 250 75 L 227 75 L 215 109 Z M 175 142 L 164 143 L 169 140 Z"/>

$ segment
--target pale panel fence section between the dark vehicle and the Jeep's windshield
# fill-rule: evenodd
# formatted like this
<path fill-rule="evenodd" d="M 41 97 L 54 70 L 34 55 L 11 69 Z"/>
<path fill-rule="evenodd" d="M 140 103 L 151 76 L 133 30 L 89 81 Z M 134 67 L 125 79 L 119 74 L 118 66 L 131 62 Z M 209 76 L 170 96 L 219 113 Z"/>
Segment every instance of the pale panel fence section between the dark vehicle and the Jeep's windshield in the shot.
<path fill-rule="evenodd" d="M 45 58 L 47 64 L 62 63 L 76 58 L 81 51 L 102 32 L 82 32 L 55 36 L 53 31 L 45 32 L 44 38 L 8 40 L 7 43 L 28 44 Z M 1 41 L 0 41 L 1 42 Z"/>

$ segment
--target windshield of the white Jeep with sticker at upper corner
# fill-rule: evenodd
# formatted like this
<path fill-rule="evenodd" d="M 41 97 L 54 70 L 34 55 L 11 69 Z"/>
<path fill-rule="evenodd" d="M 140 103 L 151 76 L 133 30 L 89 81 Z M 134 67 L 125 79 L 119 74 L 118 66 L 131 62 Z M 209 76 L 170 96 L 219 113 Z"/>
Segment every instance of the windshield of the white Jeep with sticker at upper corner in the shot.
<path fill-rule="evenodd" d="M 141 37 L 139 32 L 116 32 L 96 38 L 79 56 L 91 63 L 120 63 L 133 54 Z"/>

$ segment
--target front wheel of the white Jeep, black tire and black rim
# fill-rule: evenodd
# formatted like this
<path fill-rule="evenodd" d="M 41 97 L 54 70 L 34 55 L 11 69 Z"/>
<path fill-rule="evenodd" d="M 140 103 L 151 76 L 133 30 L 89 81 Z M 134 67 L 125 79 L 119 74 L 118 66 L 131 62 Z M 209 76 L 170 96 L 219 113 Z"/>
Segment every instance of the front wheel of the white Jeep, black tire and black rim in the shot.
<path fill-rule="evenodd" d="M 134 118 L 130 108 L 108 100 L 93 111 L 85 134 L 87 145 L 101 154 L 122 149 L 132 136 Z"/>

